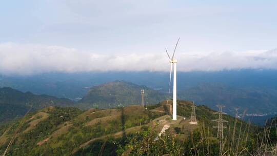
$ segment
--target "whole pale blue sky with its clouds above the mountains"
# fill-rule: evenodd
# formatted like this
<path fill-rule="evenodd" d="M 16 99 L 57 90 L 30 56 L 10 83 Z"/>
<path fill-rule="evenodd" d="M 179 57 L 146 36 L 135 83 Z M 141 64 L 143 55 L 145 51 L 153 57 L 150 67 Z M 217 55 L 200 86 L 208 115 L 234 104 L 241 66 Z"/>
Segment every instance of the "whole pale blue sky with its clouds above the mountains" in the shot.
<path fill-rule="evenodd" d="M 275 56 L 276 1 L 2 1 L 0 10 L 0 56 L 6 58 L 0 63 L 0 73 L 102 70 L 96 64 L 82 63 L 94 61 L 87 57 L 100 59 L 99 66 L 108 59 L 111 67 L 105 70 L 166 70 L 159 67 L 166 58 L 147 63 L 150 58 L 166 57 L 164 48 L 172 51 L 178 37 L 176 57 L 179 54 L 179 67 L 184 71 L 273 68 L 276 64 L 255 62 L 257 57 Z M 213 55 L 227 63 L 205 62 Z M 234 57 L 228 60 L 228 55 Z M 133 56 L 145 60 L 145 67 L 137 68 L 142 61 L 134 64 Z M 232 65 L 248 57 L 247 65 Z M 49 61 L 53 58 L 57 62 Z M 193 68 L 182 64 L 182 59 L 204 62 Z M 50 67 L 47 62 L 61 67 Z"/>

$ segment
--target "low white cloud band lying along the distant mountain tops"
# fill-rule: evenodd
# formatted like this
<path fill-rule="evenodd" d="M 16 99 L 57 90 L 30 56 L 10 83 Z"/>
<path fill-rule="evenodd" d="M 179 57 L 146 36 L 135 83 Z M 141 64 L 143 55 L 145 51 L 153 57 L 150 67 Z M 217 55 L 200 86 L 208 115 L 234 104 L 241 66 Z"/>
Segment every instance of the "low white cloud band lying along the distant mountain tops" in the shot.
<path fill-rule="evenodd" d="M 181 51 L 181 50 L 180 50 Z M 176 53 L 178 71 L 277 69 L 277 50 L 221 53 Z M 100 54 L 78 49 L 0 44 L 0 73 L 30 75 L 44 72 L 169 71 L 165 52 Z"/>

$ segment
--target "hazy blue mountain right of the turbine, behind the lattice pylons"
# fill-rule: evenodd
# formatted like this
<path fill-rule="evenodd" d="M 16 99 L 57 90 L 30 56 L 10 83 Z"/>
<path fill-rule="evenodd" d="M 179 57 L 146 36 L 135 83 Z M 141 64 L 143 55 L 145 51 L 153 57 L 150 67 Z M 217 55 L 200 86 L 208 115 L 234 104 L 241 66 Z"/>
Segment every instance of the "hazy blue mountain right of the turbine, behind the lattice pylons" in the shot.
<path fill-rule="evenodd" d="M 254 87 L 230 87 L 219 83 L 202 83 L 195 87 L 179 92 L 180 99 L 193 100 L 216 109 L 215 105 L 225 105 L 227 113 L 262 114 L 277 112 L 277 90 Z"/>

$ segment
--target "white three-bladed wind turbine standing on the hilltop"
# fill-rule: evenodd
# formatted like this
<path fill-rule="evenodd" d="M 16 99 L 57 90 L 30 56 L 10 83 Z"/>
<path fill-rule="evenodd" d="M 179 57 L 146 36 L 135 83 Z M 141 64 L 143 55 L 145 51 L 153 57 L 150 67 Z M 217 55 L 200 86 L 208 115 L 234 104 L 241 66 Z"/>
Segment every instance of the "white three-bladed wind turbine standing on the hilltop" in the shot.
<path fill-rule="evenodd" d="M 172 113 L 172 120 L 177 120 L 177 91 L 176 91 L 176 64 L 177 64 L 177 60 L 174 59 L 174 54 L 176 51 L 176 47 L 179 43 L 180 38 L 178 38 L 178 41 L 176 43 L 174 52 L 172 57 L 170 58 L 167 49 L 166 49 L 166 53 L 167 56 L 169 58 L 169 63 L 170 63 L 170 77 L 169 77 L 169 93 L 170 93 L 170 85 L 171 85 L 171 73 L 172 73 L 172 64 L 174 66 L 174 70 L 173 70 L 173 113 Z"/>

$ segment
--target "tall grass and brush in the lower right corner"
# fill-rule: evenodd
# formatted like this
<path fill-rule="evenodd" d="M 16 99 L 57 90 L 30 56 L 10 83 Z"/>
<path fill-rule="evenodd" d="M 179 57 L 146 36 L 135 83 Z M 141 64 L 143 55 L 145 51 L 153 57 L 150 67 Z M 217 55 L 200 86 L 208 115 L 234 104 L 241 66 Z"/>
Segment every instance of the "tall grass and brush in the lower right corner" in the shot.
<path fill-rule="evenodd" d="M 246 125 L 246 126 L 244 126 Z M 277 127 L 276 122 L 272 119 L 266 123 L 264 128 L 257 131 L 250 130 L 253 128 L 248 121 L 235 119 L 233 128 L 225 131 L 225 138 L 215 140 L 215 134 L 210 132 L 209 127 L 203 124 L 200 135 L 201 139 L 195 142 L 195 134 L 190 136 L 192 147 L 190 152 L 185 155 L 205 155 L 205 156 L 273 156 L 277 155 Z M 251 132 L 250 132 L 251 131 Z M 193 136 L 194 135 L 194 136 Z M 273 135 L 275 138 L 273 138 Z"/>

